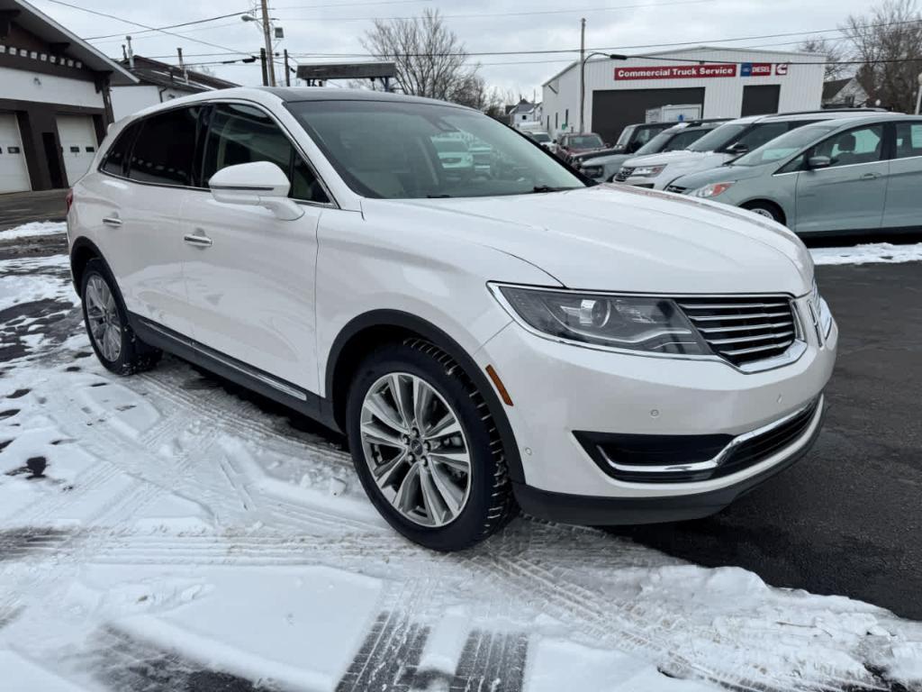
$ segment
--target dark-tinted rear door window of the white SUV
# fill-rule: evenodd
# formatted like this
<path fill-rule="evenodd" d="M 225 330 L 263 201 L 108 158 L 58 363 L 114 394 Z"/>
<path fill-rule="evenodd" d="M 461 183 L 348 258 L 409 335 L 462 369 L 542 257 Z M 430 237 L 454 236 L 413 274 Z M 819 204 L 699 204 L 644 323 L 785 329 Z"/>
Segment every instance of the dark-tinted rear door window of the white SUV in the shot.
<path fill-rule="evenodd" d="M 195 136 L 201 106 L 177 108 L 141 121 L 128 177 L 141 183 L 195 185 Z"/>

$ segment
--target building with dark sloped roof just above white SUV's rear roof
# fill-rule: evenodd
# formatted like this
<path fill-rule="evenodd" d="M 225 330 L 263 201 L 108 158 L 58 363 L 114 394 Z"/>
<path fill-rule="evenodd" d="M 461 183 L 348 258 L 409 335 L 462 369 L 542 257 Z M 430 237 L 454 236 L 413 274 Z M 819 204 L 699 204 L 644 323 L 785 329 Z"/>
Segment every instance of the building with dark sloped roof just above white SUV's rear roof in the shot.
<path fill-rule="evenodd" d="M 140 55 L 125 58 L 119 61 L 119 65 L 134 75 L 137 83 L 112 89 L 112 112 L 115 120 L 137 113 L 142 108 L 181 96 L 240 86 L 225 79 L 167 65 Z"/>

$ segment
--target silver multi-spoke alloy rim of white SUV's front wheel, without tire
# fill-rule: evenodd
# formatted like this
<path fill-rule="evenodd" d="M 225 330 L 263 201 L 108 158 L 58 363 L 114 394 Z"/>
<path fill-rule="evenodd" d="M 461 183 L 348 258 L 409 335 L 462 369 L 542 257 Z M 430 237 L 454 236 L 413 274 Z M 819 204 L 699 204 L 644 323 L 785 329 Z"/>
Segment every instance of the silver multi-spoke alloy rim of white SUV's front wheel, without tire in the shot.
<path fill-rule="evenodd" d="M 361 445 L 374 483 L 404 518 L 438 528 L 467 504 L 467 437 L 457 413 L 421 377 L 390 373 L 369 388 Z"/>

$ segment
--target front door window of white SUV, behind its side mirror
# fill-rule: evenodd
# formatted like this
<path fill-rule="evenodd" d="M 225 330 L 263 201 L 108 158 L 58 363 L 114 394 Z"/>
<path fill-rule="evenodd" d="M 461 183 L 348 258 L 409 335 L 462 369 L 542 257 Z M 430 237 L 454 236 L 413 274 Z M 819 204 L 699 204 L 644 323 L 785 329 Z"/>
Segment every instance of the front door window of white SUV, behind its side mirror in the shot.
<path fill-rule="evenodd" d="M 267 113 L 253 106 L 219 103 L 205 142 L 202 180 L 228 166 L 254 161 L 275 163 L 291 181 L 289 197 L 328 202 L 311 167 Z"/>

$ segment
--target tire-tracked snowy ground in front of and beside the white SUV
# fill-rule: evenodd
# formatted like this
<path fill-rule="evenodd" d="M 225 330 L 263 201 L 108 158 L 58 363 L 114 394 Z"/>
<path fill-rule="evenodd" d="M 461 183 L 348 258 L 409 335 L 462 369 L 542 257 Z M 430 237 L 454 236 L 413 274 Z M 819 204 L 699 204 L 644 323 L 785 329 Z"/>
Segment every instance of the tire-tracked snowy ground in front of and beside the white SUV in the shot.
<path fill-rule="evenodd" d="M 68 281 L 0 261 L 5 690 L 922 690 L 922 624 L 867 603 L 524 518 L 422 550 L 335 436 L 104 370 Z"/>

